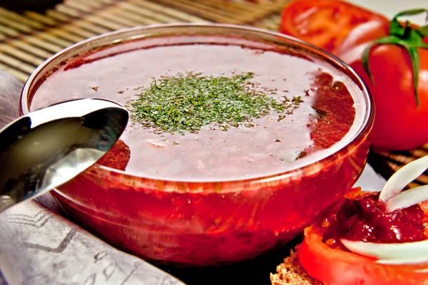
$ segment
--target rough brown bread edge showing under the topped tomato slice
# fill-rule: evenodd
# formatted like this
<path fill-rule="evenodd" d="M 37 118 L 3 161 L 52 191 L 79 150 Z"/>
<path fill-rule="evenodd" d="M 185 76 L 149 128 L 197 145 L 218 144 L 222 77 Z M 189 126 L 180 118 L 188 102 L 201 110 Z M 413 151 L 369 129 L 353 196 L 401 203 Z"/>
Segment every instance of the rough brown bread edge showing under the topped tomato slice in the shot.
<path fill-rule="evenodd" d="M 285 258 L 284 263 L 277 266 L 277 273 L 270 274 L 272 285 L 323 285 L 323 282 L 309 276 L 300 265 L 297 250 L 298 246 L 295 251 L 290 251 L 290 257 Z"/>

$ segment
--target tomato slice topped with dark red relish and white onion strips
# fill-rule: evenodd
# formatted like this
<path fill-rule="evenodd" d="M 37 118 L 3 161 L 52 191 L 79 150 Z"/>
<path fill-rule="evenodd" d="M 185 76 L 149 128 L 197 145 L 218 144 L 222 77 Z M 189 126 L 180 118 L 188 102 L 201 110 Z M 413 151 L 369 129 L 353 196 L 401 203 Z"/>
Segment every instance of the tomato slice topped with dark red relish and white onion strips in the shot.
<path fill-rule="evenodd" d="M 305 229 L 300 266 L 329 285 L 427 284 L 428 186 L 403 191 L 427 166 L 428 156 L 410 162 L 380 192 L 350 190 Z M 351 240 L 357 247 L 349 247 Z M 385 247 L 388 253 L 379 254 Z"/>

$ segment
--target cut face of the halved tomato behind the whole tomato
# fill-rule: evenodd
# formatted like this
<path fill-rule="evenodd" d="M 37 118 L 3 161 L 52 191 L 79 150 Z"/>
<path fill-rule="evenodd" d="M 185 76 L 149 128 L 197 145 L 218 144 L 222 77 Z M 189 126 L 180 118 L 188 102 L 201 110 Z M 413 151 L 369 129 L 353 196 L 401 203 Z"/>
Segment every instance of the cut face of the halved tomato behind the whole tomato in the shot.
<path fill-rule="evenodd" d="M 280 31 L 336 54 L 386 36 L 389 20 L 340 0 L 293 0 L 282 10 Z"/>

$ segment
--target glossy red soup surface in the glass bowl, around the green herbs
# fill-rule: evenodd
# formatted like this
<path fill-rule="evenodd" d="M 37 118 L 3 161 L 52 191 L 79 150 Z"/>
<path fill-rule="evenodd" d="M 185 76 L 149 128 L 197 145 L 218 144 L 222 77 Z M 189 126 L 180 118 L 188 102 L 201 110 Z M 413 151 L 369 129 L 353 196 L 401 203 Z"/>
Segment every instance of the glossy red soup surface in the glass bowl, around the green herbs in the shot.
<path fill-rule="evenodd" d="M 131 119 L 121 137 L 122 149 L 112 150 L 116 155 L 123 150 L 126 155 L 102 164 L 132 175 L 174 181 L 275 175 L 339 150 L 357 132 L 352 125 L 360 125 L 363 119 L 364 110 L 352 95 L 361 93 L 360 88 L 322 59 L 290 48 L 219 36 L 152 38 L 82 54 L 44 79 L 31 110 L 69 98 L 101 97 L 126 105 L 133 114 L 133 102 L 147 95 L 149 86 L 161 80 L 168 83 L 178 76 L 188 80 L 189 73 L 225 80 L 250 74 L 245 88 L 252 89 L 244 96 L 256 92 L 289 108 L 283 112 L 269 110 L 260 118 L 228 125 L 227 130 L 214 122 L 194 132 L 159 131 L 156 124 Z M 215 84 L 212 80 L 202 88 L 215 88 Z M 223 84 L 219 91 L 225 98 L 229 87 Z M 186 92 L 180 88 L 175 86 L 172 91 Z M 157 96 L 172 92 L 170 89 L 160 90 Z M 170 109 L 156 106 L 159 113 L 168 115 Z"/>

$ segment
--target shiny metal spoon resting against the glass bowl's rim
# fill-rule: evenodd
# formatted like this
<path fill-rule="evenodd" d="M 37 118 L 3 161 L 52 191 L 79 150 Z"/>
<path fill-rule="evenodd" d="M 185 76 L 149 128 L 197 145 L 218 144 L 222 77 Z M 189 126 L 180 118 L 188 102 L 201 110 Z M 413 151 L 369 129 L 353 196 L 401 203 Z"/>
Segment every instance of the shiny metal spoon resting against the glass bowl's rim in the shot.
<path fill-rule="evenodd" d="M 96 163 L 127 123 L 121 105 L 90 98 L 51 105 L 6 125 L 0 130 L 0 212 Z"/>

